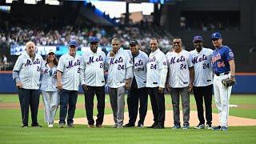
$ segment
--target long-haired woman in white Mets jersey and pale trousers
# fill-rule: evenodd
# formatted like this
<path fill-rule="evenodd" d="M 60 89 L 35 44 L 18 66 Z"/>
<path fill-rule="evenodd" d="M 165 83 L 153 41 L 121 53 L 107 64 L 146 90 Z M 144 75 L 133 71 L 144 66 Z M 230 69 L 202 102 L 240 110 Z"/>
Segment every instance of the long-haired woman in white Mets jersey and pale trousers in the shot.
<path fill-rule="evenodd" d="M 59 94 L 57 89 L 57 66 L 58 59 L 54 50 L 49 50 L 46 55 L 46 61 L 42 65 L 42 79 L 40 90 L 42 92 L 42 99 L 44 104 L 45 122 L 48 127 L 54 127 L 54 117 L 58 110 Z"/>

